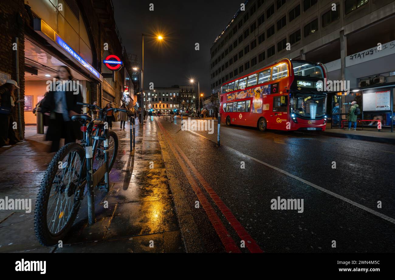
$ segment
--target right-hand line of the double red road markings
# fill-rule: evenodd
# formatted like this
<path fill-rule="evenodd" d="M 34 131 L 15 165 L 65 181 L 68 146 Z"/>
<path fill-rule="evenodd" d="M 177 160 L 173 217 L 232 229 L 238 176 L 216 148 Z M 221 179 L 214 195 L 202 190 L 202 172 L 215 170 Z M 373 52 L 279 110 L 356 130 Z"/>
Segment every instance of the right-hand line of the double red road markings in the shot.
<path fill-rule="evenodd" d="M 158 122 L 158 121 L 157 121 L 157 123 L 160 126 L 162 132 L 164 132 L 164 134 L 167 135 L 167 137 L 169 139 L 173 140 L 172 137 L 170 136 L 170 134 L 162 126 L 162 124 L 160 124 L 160 122 Z M 232 214 L 232 212 L 225 205 L 225 203 L 222 201 L 222 199 L 220 199 L 220 197 L 216 194 L 216 192 L 213 190 L 213 188 L 211 188 L 210 184 L 203 178 L 203 176 L 195 168 L 195 166 L 192 164 L 192 162 L 190 162 L 190 160 L 186 157 L 184 152 L 182 152 L 181 148 L 175 143 L 175 141 L 171 141 L 171 143 L 170 143 L 170 141 L 167 141 L 167 142 L 169 142 L 170 145 L 174 145 L 174 147 L 178 150 L 178 152 L 181 154 L 182 158 L 184 158 L 184 161 L 186 162 L 186 164 L 190 167 L 192 172 L 195 174 L 196 178 L 198 178 L 199 182 L 202 184 L 203 188 L 205 188 L 207 193 L 210 195 L 211 199 L 213 199 L 214 203 L 221 210 L 222 214 L 224 214 L 226 220 L 228 220 L 229 224 L 231 224 L 233 229 L 235 229 L 237 235 L 239 235 L 241 240 L 245 241 L 245 244 L 246 244 L 248 250 L 250 250 L 251 253 L 263 253 L 263 250 L 258 246 L 258 244 L 255 242 L 255 240 L 252 239 L 252 237 L 249 235 L 249 233 L 240 224 L 240 222 Z M 174 150 L 173 150 L 173 153 L 174 153 Z M 174 153 L 174 154 L 177 154 L 177 153 Z M 177 156 L 178 156 L 178 154 L 177 154 Z M 196 181 L 195 181 L 195 183 L 196 183 Z"/>

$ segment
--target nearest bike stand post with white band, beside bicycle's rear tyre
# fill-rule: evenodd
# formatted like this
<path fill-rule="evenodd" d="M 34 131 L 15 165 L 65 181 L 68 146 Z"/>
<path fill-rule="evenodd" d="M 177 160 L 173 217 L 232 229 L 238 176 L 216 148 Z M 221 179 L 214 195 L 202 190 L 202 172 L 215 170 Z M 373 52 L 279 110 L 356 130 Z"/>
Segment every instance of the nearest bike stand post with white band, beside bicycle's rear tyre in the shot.
<path fill-rule="evenodd" d="M 88 133 L 87 133 L 88 135 Z M 90 138 L 87 136 L 85 146 L 85 158 L 87 159 L 87 185 L 88 185 L 88 222 L 90 225 L 95 222 L 95 201 L 93 191 L 93 163 L 92 163 L 92 143 Z"/>

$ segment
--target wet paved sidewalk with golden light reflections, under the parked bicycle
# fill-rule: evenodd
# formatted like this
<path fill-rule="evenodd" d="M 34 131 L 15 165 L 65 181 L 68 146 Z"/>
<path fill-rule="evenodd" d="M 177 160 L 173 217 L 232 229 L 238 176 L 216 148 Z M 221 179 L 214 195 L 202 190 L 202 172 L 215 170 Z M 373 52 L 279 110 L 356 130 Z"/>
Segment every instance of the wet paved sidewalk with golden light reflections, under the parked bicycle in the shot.
<path fill-rule="evenodd" d="M 137 121 L 138 123 L 138 121 Z M 43 135 L 27 129 L 26 142 L 0 150 L 0 198 L 32 199 L 32 211 L 0 210 L 0 252 L 184 252 L 179 222 L 154 122 L 136 125 L 130 152 L 129 124 L 119 138 L 110 191 L 95 189 L 96 222 L 87 221 L 83 200 L 63 248 L 45 248 L 34 235 L 34 206 L 52 158 Z M 108 207 L 105 208 L 104 205 Z"/>

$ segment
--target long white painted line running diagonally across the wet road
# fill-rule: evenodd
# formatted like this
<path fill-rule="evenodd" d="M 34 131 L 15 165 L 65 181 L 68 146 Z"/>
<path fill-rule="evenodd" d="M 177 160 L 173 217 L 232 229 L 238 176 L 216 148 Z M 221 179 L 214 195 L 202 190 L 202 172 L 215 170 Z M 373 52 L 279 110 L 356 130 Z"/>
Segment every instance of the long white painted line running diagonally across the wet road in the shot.
<path fill-rule="evenodd" d="M 196 132 L 194 132 L 194 131 L 190 131 L 190 132 L 193 132 L 193 133 L 195 133 L 195 134 L 197 134 L 197 135 L 199 135 L 199 136 L 201 136 L 201 137 L 203 137 L 203 138 L 205 138 L 205 139 L 207 139 L 207 140 L 210 140 L 209 138 L 204 137 L 203 135 L 200 135 L 199 133 L 196 133 Z M 212 141 L 212 140 L 210 140 L 210 141 Z M 214 142 L 214 141 L 212 141 L 212 142 Z M 215 142 L 214 142 L 214 143 L 215 143 Z M 359 203 L 357 203 L 357 202 L 355 202 L 355 201 L 352 201 L 351 199 L 348 199 L 348 198 L 346 198 L 346 197 L 344 197 L 344 196 L 341 196 L 341 195 L 339 195 L 339 194 L 336 194 L 336 193 L 334 193 L 334 192 L 331 192 L 330 190 L 327 190 L 327 189 L 324 189 L 324 188 L 322 188 L 322 187 L 320 187 L 320 186 L 317 186 L 316 184 L 310 183 L 310 182 L 308 182 L 308 181 L 306 181 L 306 180 L 304 180 L 304 179 L 302 179 L 302 178 L 299 178 L 299 177 L 297 177 L 297 176 L 295 176 L 295 175 L 293 175 L 293 174 L 291 174 L 291 173 L 288 173 L 287 171 L 284 171 L 284 170 L 282 170 L 282 169 L 280 169 L 280 168 L 278 168 L 278 167 L 275 167 L 275 166 L 273 166 L 273 165 L 270 165 L 269 163 L 262 162 L 261 160 L 258 160 L 257 158 L 254 158 L 254 157 L 252 157 L 252 156 L 248 156 L 248 154 L 244 154 L 244 153 L 242 153 L 242 152 L 240 152 L 240 151 L 238 151 L 238 150 L 235 150 L 235 149 L 233 149 L 233 148 L 231 148 L 231 147 L 228 147 L 228 146 L 224 146 L 224 145 L 221 145 L 221 146 L 222 146 L 222 147 L 226 147 L 226 148 L 228 148 L 228 149 L 230 149 L 230 150 L 233 150 L 233 151 L 235 151 L 235 152 L 237 152 L 237 153 L 239 153 L 239 154 L 242 154 L 243 156 L 246 156 L 247 158 L 250 158 L 251 160 L 254 160 L 254 161 L 259 162 L 259 163 L 261 163 L 261 164 L 263 164 L 263 165 L 266 165 L 267 167 L 270 167 L 270 168 L 272 168 L 272 169 L 275 169 L 276 171 L 281 172 L 281 173 L 283 173 L 283 174 L 285 174 L 285 175 L 288 175 L 288 176 L 292 177 L 293 179 L 299 180 L 299 181 L 301 181 L 301 182 L 303 182 L 303 183 L 305 183 L 305 184 L 307 184 L 307 185 L 309 185 L 309 186 L 312 186 L 313 188 L 316 188 L 317 190 L 320 190 L 320 191 L 325 192 L 325 193 L 327 193 L 327 194 L 330 194 L 330 195 L 332 195 L 332 196 L 334 196 L 334 197 L 337 197 L 337 198 L 341 199 L 342 201 L 345 201 L 345 202 L 347 202 L 347 203 L 350 203 L 351 205 L 354 205 L 354 206 L 356 206 L 356 207 L 358 207 L 358 208 L 361 208 L 362 210 L 365 210 L 365 211 L 367 211 L 367 212 L 369 212 L 369 213 L 371 213 L 371 214 L 374 214 L 374 215 L 376 215 L 376 216 L 378 216 L 378 217 L 380 217 L 380 218 L 382 218 L 382 219 L 384 219 L 384 220 L 387 220 L 388 222 L 391 222 L 391 223 L 395 224 L 395 219 L 393 219 L 393 218 L 391 218 L 391 217 L 389 217 L 389 216 L 386 216 L 386 215 L 384 215 L 384 214 L 381 214 L 380 212 L 377 212 L 377 211 L 375 211 L 375 210 L 372 210 L 372 209 L 370 209 L 370 208 L 368 208 L 368 207 L 366 207 L 366 206 L 363 206 L 363 205 L 361 205 L 361 204 L 359 204 Z"/>

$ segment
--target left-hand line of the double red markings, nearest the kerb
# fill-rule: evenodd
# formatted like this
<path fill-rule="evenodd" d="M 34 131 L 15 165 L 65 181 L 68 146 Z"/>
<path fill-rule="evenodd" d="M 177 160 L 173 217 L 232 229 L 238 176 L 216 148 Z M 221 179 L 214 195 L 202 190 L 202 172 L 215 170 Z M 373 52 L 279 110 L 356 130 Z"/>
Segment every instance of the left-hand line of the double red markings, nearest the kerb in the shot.
<path fill-rule="evenodd" d="M 213 227 L 214 227 L 216 233 L 218 234 L 218 237 L 220 238 L 222 244 L 224 244 L 226 252 L 241 253 L 239 247 L 236 246 L 236 243 L 233 240 L 233 238 L 230 236 L 228 230 L 226 229 L 224 224 L 222 224 L 221 219 L 218 217 L 217 213 L 215 212 L 215 210 L 213 209 L 213 207 L 211 206 L 211 204 L 209 203 L 209 201 L 207 200 L 207 198 L 205 197 L 205 195 L 199 188 L 198 183 L 192 177 L 192 174 L 188 170 L 188 167 L 186 167 L 186 165 L 180 158 L 179 154 L 173 147 L 173 143 L 171 143 L 171 141 L 169 140 L 169 138 L 171 139 L 170 135 L 167 133 L 167 131 L 164 129 L 164 127 L 158 121 L 157 121 L 157 123 L 158 123 L 160 130 L 162 130 L 162 132 L 164 133 L 167 143 L 169 143 L 169 146 L 170 146 L 171 150 L 173 151 L 173 154 L 175 155 L 178 163 L 180 164 L 182 171 L 184 171 L 186 178 L 188 179 L 194 192 L 196 193 L 201 205 L 203 206 L 203 209 L 205 210 L 207 216 L 209 217 L 211 224 L 213 224 Z"/>

